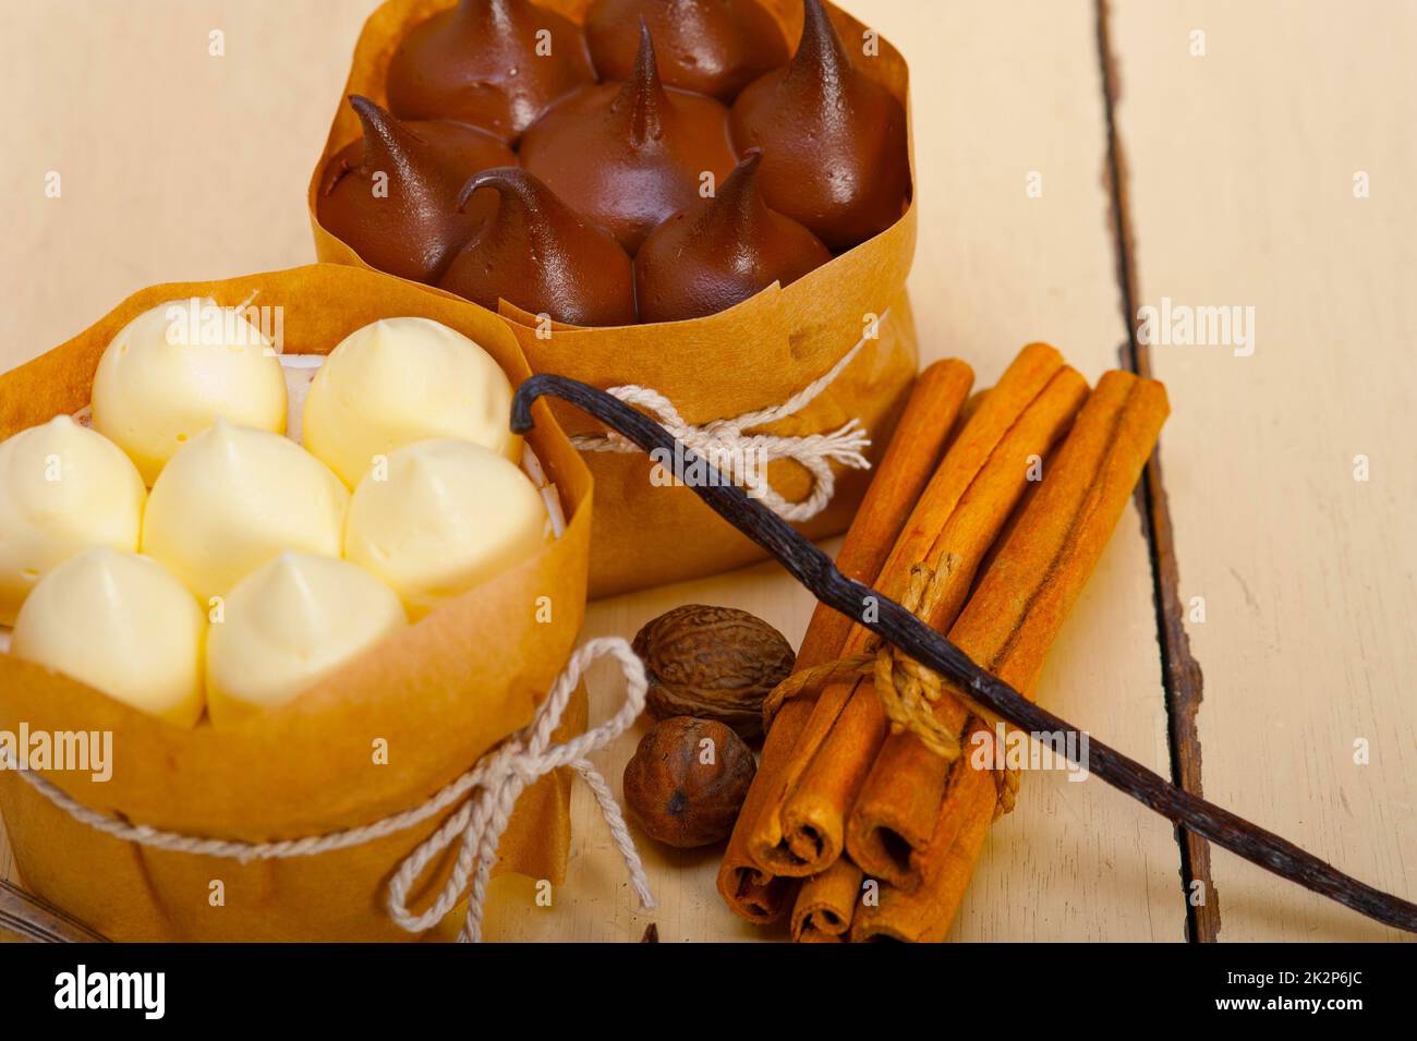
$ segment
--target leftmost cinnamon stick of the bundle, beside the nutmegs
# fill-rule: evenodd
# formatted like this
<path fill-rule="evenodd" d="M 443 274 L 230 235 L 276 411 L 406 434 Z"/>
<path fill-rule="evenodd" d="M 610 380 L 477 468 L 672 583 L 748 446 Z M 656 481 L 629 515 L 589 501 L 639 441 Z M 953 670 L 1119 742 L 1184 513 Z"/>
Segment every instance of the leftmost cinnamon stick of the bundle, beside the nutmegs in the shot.
<path fill-rule="evenodd" d="M 867 584 L 876 581 L 901 525 L 945 452 L 972 382 L 973 371 L 958 360 L 937 361 L 917 378 L 896 435 L 842 541 L 836 565 L 845 575 Z M 808 669 L 836 659 L 850 627 L 852 622 L 845 615 L 818 603 L 798 650 L 798 666 Z M 748 831 L 777 795 L 782 770 L 811 714 L 811 698 L 794 698 L 778 712 L 718 868 L 718 892 L 724 901 L 734 914 L 760 925 L 774 922 L 786 912 L 796 881 L 765 871 L 750 855 Z"/>

